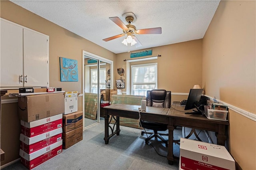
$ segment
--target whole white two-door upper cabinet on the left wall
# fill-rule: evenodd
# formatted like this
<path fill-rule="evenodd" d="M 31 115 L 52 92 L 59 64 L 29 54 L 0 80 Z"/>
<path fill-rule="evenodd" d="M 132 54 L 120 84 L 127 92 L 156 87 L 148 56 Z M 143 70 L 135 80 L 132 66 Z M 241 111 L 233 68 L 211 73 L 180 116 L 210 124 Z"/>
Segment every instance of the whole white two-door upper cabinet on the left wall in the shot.
<path fill-rule="evenodd" d="M 48 87 L 49 36 L 1 18 L 0 87 Z"/>

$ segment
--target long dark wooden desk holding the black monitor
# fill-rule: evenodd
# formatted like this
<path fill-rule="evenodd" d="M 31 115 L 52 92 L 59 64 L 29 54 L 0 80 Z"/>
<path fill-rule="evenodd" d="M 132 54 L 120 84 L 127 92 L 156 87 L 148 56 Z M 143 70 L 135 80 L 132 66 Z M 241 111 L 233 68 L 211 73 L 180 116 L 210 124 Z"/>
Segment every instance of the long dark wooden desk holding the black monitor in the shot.
<path fill-rule="evenodd" d="M 174 127 L 190 127 L 202 130 L 209 130 L 216 132 L 217 144 L 225 145 L 226 140 L 226 125 L 229 125 L 226 121 L 215 121 L 207 119 L 202 115 L 184 114 L 184 107 L 179 106 L 180 102 L 174 102 L 172 108 L 158 108 L 158 107 L 147 107 L 147 112 L 140 112 L 141 119 L 146 121 L 154 121 L 158 123 L 168 124 L 168 163 L 173 164 L 173 130 Z M 119 117 L 127 117 L 132 119 L 139 119 L 138 105 L 125 105 L 116 104 L 104 107 L 104 119 L 105 119 L 105 144 L 108 144 L 109 139 L 120 133 Z M 176 109 L 176 110 L 175 110 Z M 186 111 L 192 112 L 192 111 Z M 116 116 L 116 130 L 114 127 L 110 127 L 109 118 L 110 115 Z M 109 134 L 109 128 L 112 133 Z"/>

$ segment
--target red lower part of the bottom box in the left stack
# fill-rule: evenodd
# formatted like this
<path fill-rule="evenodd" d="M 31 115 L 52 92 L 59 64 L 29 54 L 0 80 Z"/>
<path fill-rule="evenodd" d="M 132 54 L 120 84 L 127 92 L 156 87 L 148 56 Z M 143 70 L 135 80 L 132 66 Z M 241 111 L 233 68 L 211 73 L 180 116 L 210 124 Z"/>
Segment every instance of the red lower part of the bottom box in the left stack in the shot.
<path fill-rule="evenodd" d="M 25 158 L 21 157 L 21 163 L 24 164 L 24 166 L 26 166 L 28 169 L 32 169 L 40 164 L 42 164 L 43 162 L 46 162 L 47 160 L 49 160 L 50 158 L 56 156 L 57 154 L 60 154 L 62 152 L 62 145 L 53 148 L 52 150 L 38 156 L 37 158 L 33 159 L 33 160 L 26 160 Z"/>

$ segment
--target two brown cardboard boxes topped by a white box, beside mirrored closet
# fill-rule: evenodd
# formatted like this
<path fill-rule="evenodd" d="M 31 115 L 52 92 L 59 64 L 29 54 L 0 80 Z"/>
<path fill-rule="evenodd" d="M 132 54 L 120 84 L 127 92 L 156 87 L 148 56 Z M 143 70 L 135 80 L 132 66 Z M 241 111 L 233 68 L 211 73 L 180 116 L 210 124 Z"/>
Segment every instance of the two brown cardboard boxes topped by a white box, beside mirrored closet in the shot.
<path fill-rule="evenodd" d="M 67 149 L 83 139 L 83 112 L 78 111 L 77 97 L 77 91 L 65 92 L 65 112 L 62 116 L 63 149 Z"/>

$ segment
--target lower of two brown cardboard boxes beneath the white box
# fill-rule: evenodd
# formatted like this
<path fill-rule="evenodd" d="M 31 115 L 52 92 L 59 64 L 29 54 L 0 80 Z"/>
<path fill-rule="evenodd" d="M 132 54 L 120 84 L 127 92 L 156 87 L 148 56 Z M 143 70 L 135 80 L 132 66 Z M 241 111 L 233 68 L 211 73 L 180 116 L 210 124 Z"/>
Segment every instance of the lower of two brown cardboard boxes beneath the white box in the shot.
<path fill-rule="evenodd" d="M 62 148 L 67 149 L 83 139 L 83 127 L 62 133 Z"/>

